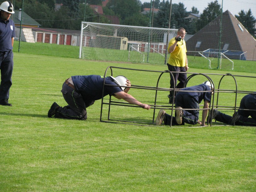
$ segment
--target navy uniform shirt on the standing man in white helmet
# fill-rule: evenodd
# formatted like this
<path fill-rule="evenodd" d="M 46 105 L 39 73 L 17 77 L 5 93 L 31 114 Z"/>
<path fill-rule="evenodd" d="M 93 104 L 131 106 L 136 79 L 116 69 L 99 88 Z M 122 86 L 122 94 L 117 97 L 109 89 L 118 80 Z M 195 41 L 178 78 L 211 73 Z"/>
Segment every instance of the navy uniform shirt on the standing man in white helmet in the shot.
<path fill-rule="evenodd" d="M 12 37 L 15 37 L 13 20 L 4 21 L 0 17 L 0 51 L 10 51 L 13 49 Z"/>

